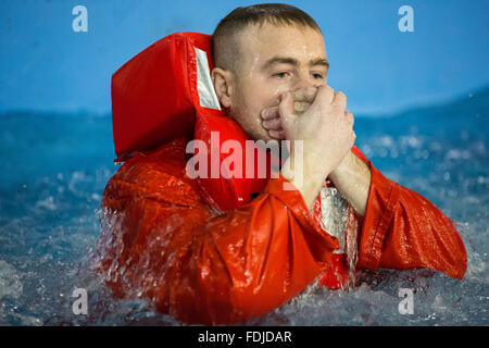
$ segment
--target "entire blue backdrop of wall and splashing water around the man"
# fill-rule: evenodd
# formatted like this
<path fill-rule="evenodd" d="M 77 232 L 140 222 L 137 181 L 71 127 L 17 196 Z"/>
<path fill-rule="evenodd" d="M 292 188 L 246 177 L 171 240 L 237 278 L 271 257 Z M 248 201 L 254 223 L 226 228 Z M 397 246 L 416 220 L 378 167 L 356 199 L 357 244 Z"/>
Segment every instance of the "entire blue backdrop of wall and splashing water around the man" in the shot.
<path fill-rule="evenodd" d="M 0 0 L 0 325 L 178 325 L 145 300 L 115 299 L 85 263 L 117 170 L 111 75 L 165 35 L 212 33 L 249 3 Z M 489 325 L 489 1 L 290 3 L 323 28 L 356 146 L 454 220 L 468 265 L 463 281 L 367 272 L 361 288 L 305 291 L 247 324 Z M 88 33 L 72 29 L 78 4 Z M 414 33 L 398 29 L 402 4 Z M 72 312 L 74 288 L 89 289 L 88 315 Z M 398 312 L 400 288 L 416 289 L 412 315 Z"/>

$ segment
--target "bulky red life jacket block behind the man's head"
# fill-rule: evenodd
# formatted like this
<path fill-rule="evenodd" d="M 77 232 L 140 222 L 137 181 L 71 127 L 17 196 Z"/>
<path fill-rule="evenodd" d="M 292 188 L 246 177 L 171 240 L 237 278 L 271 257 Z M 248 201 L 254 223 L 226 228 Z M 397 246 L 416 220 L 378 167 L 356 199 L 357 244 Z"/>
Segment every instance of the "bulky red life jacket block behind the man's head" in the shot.
<path fill-rule="evenodd" d="M 152 44 L 112 76 L 112 127 L 117 161 L 154 149 L 176 137 L 193 135 L 200 105 L 196 49 L 206 52 L 210 36 L 175 33 Z"/>

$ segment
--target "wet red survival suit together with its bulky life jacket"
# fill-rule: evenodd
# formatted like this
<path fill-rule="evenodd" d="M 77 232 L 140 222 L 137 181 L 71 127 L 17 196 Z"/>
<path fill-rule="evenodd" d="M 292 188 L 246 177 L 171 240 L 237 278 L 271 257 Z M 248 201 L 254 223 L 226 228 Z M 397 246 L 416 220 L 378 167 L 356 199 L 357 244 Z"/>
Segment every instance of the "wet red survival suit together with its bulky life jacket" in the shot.
<path fill-rule="evenodd" d="M 229 324 L 279 307 L 318 276 L 344 287 L 355 268 L 463 277 L 466 252 L 452 221 L 386 178 L 356 147 L 372 184 L 364 217 L 347 207 L 340 250 L 322 219 L 327 191 L 310 212 L 272 170 L 266 178 L 190 178 L 189 140 L 212 148 L 214 130 L 217 148 L 248 139 L 220 110 L 209 52 L 209 36 L 174 34 L 112 78 L 116 161 L 125 163 L 103 194 L 98 272 L 116 296 L 147 296 L 185 323 Z M 218 156 L 221 163 L 226 156 Z"/>

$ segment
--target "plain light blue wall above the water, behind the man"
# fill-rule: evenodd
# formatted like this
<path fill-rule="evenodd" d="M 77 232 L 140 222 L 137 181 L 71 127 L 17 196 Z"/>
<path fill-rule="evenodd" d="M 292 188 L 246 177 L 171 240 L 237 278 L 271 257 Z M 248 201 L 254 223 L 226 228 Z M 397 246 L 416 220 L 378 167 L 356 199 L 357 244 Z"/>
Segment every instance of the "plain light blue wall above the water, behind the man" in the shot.
<path fill-rule="evenodd" d="M 109 112 L 111 75 L 131 57 L 174 32 L 211 34 L 255 2 L 2 0 L 0 112 Z M 489 1 L 286 2 L 322 27 L 329 84 L 353 113 L 446 102 L 489 83 Z M 77 4 L 88 10 L 87 33 L 72 29 Z M 414 10 L 414 33 L 398 29 L 402 4 Z"/>

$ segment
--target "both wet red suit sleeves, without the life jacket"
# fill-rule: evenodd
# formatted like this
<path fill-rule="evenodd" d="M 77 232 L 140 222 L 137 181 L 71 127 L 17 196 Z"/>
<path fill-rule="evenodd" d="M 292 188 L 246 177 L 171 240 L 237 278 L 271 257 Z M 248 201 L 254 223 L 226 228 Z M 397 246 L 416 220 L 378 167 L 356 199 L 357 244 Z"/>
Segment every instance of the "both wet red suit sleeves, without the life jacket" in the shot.
<path fill-rule="evenodd" d="M 249 203 L 215 214 L 186 176 L 185 146 L 177 139 L 136 154 L 105 188 L 102 206 L 122 220 L 104 236 L 99 271 L 124 271 L 108 281 L 116 295 L 137 290 L 185 323 L 236 323 L 279 307 L 331 268 L 338 240 L 318 226 L 298 190 L 283 189 L 284 177 L 271 178 Z M 358 268 L 430 268 L 461 278 L 466 253 L 450 219 L 367 163 Z M 111 234 L 122 234 L 122 248 Z"/>

